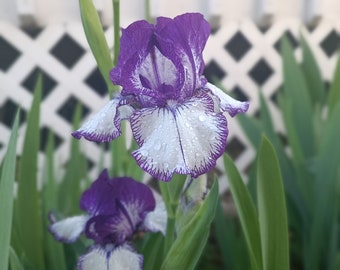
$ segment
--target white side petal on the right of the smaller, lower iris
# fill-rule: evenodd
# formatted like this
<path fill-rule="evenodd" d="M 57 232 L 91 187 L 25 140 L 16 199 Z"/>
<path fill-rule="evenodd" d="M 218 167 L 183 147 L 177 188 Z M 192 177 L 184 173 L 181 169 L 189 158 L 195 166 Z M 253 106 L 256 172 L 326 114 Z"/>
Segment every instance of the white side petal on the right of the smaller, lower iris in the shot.
<path fill-rule="evenodd" d="M 146 230 L 151 232 L 161 232 L 165 235 L 167 212 L 163 201 L 156 203 L 155 210 L 146 215 L 143 224 Z"/>

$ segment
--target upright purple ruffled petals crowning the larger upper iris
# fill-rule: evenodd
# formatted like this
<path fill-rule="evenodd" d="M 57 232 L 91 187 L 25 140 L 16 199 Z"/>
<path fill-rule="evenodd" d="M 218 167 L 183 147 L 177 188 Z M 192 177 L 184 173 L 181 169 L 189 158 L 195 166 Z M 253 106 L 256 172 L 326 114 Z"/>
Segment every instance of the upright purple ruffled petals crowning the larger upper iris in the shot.
<path fill-rule="evenodd" d="M 198 13 L 160 17 L 155 26 L 137 21 L 122 32 L 111 80 L 123 86 L 122 95 L 149 97 L 140 100 L 142 107 L 190 97 L 206 83 L 202 51 L 209 33 L 208 22 Z"/>

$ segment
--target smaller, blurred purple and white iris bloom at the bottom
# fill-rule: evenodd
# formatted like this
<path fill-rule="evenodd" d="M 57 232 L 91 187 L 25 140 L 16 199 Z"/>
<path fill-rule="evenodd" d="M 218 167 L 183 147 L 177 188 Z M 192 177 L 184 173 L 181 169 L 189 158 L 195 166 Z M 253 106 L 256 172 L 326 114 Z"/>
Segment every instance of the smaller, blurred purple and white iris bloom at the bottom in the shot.
<path fill-rule="evenodd" d="M 55 222 L 50 232 L 62 242 L 74 242 L 82 233 L 94 241 L 78 260 L 78 269 L 142 269 L 143 257 L 130 244 L 140 231 L 165 234 L 164 203 L 156 204 L 151 189 L 128 177 L 110 179 L 104 170 L 80 200 L 87 214 Z"/>

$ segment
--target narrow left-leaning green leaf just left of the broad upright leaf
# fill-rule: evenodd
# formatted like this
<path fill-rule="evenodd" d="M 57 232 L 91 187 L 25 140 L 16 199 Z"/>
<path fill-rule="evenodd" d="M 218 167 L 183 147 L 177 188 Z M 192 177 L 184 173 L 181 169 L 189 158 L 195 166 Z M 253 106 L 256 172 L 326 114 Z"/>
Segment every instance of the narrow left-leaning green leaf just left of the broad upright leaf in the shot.
<path fill-rule="evenodd" d="M 228 155 L 224 156 L 224 166 L 229 180 L 230 191 L 247 242 L 252 269 L 260 270 L 262 269 L 262 251 L 260 227 L 255 205 L 239 171 Z"/>

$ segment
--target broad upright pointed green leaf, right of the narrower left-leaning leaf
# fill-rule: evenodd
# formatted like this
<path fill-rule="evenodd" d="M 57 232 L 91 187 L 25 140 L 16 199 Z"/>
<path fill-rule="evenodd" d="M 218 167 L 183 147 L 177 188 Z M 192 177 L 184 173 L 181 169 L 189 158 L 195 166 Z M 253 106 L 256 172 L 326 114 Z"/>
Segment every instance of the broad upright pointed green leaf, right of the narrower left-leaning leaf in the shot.
<path fill-rule="evenodd" d="M 263 137 L 257 163 L 257 198 L 264 270 L 289 269 L 285 194 L 278 159 Z"/>

